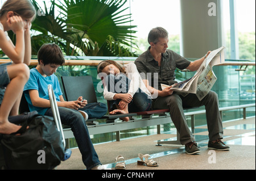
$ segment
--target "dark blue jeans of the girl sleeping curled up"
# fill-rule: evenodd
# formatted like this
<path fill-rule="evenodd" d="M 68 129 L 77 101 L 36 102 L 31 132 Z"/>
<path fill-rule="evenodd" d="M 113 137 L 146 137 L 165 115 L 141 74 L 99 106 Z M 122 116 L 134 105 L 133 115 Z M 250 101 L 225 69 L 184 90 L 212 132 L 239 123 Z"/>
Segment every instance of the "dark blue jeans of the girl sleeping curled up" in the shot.
<path fill-rule="evenodd" d="M 119 74 L 115 77 L 113 74 L 108 75 L 106 78 L 106 86 L 109 92 L 113 93 L 127 93 L 129 90 L 131 80 L 124 74 Z M 121 99 L 110 100 L 110 108 L 113 109 L 114 105 L 118 105 Z M 133 100 L 128 104 L 129 112 L 148 111 L 151 108 L 152 100 L 148 99 L 148 95 L 140 88 L 133 95 Z"/>

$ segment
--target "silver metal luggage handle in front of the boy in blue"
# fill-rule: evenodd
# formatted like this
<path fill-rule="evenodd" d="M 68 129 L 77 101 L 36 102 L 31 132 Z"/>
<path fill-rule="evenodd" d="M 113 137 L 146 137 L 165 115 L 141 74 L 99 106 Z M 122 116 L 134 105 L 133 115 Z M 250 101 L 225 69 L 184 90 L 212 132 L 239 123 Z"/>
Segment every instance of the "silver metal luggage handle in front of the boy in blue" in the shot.
<path fill-rule="evenodd" d="M 59 113 L 59 109 L 57 107 L 57 102 L 56 102 L 55 94 L 52 89 L 52 85 L 48 85 L 48 94 L 49 94 L 49 100 L 51 103 L 53 118 L 55 120 L 57 130 L 61 133 L 61 136 L 63 138 L 63 145 L 65 148 L 66 144 L 65 144 L 64 133 L 63 133 L 62 124 L 61 124 L 61 120 L 60 120 L 60 113 Z"/>

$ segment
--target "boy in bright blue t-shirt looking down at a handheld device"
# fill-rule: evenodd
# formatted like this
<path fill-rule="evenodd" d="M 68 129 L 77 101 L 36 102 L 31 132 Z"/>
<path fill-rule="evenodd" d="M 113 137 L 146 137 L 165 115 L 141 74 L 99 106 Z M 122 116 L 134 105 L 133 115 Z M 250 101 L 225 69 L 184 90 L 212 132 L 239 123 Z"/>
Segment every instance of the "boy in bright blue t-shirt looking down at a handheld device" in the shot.
<path fill-rule="evenodd" d="M 76 138 L 86 169 L 104 169 L 94 150 L 85 120 L 100 118 L 108 110 L 103 103 L 89 103 L 79 97 L 66 102 L 63 98 L 59 81 L 54 75 L 57 68 L 65 62 L 61 49 L 56 44 L 44 44 L 38 52 L 38 65 L 30 70 L 30 79 L 24 87 L 24 95 L 30 111 L 40 115 L 53 116 L 48 96 L 48 85 L 52 85 L 57 99 L 61 123 L 69 125 Z M 82 102 L 81 102 L 82 101 Z"/>

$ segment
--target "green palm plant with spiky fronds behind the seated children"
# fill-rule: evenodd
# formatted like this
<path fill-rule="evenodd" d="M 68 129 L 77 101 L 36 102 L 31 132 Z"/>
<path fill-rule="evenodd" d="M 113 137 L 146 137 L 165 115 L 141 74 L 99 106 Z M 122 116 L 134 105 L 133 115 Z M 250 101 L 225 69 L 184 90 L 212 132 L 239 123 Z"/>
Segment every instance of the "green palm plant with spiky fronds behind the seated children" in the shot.
<path fill-rule="evenodd" d="M 42 32 L 37 36 L 48 36 L 48 41 L 59 44 L 67 55 L 134 56 L 125 47 L 130 47 L 135 37 L 131 29 L 136 27 L 122 25 L 131 22 L 130 14 L 121 15 L 126 1 L 59 0 L 60 5 L 52 1 L 48 11 L 45 3 L 43 10 L 32 0 L 36 10 L 45 12 L 36 18 L 32 29 Z M 61 10 L 58 16 L 56 6 Z"/>

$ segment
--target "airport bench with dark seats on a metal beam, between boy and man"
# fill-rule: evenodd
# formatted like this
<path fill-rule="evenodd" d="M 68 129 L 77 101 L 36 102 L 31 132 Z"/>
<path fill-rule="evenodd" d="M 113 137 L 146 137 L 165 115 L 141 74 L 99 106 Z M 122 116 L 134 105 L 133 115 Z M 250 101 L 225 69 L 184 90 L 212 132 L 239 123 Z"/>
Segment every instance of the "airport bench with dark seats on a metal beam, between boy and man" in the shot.
<path fill-rule="evenodd" d="M 67 101 L 77 100 L 79 96 L 86 98 L 88 103 L 97 102 L 96 92 L 94 90 L 91 76 L 63 76 L 61 77 L 64 94 Z M 75 90 L 75 91 L 74 91 Z M 109 108 L 109 105 L 108 105 Z M 188 109 L 188 108 L 185 108 Z M 110 111 L 110 108 L 109 108 Z M 116 133 L 116 140 L 120 141 L 120 132 L 127 129 L 150 127 L 157 125 L 158 134 L 160 134 L 160 125 L 171 123 L 170 115 L 166 113 L 169 110 L 150 110 L 142 112 L 133 112 L 127 114 L 104 115 L 101 119 L 105 119 L 104 123 L 99 124 L 98 121 L 88 123 L 86 121 L 89 134 Z M 121 117 L 130 117 L 130 120 L 121 121 Z M 64 129 L 65 138 L 73 138 L 71 128 Z M 179 139 L 174 144 L 180 144 Z"/>

